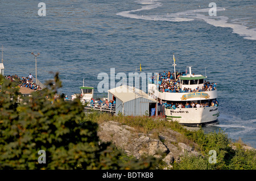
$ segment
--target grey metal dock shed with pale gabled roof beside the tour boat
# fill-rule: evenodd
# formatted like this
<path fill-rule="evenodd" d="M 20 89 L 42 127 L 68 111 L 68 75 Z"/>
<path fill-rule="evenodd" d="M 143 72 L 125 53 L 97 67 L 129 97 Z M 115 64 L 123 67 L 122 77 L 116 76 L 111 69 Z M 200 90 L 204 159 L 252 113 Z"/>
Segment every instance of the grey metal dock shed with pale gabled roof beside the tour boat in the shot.
<path fill-rule="evenodd" d="M 143 116 L 155 108 L 156 100 L 146 92 L 122 85 L 108 90 L 108 100 L 115 100 L 115 115 L 122 113 L 125 116 Z"/>

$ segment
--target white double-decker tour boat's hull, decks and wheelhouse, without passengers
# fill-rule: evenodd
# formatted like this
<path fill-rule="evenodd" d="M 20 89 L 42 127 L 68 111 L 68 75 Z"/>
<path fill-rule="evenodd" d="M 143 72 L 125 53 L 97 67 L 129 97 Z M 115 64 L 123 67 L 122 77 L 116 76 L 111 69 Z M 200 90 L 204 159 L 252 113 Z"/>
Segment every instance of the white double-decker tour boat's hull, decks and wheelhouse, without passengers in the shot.
<path fill-rule="evenodd" d="M 201 74 L 191 74 L 191 66 L 189 68 L 189 74 L 180 75 L 179 84 L 181 90 L 185 88 L 194 90 L 197 87 L 201 89 L 204 86 L 204 79 L 207 76 Z M 218 102 L 217 100 L 217 89 L 210 91 L 196 91 L 196 92 L 162 92 L 159 91 L 158 83 L 150 83 L 148 85 L 148 95 L 159 100 L 161 106 L 158 108 L 162 109 L 162 112 L 166 116 L 168 121 L 177 121 L 183 125 L 199 126 L 206 124 L 218 123 Z M 209 107 L 193 107 L 193 108 L 179 108 L 175 109 L 163 107 L 163 103 L 173 104 L 191 104 L 191 103 L 208 103 Z M 214 105 L 212 104 L 214 103 Z M 212 106 L 211 106 L 212 104 Z M 156 107 L 157 109 L 157 107 Z M 159 110 L 158 110 L 159 111 Z M 156 113 L 158 112 L 156 111 Z"/>

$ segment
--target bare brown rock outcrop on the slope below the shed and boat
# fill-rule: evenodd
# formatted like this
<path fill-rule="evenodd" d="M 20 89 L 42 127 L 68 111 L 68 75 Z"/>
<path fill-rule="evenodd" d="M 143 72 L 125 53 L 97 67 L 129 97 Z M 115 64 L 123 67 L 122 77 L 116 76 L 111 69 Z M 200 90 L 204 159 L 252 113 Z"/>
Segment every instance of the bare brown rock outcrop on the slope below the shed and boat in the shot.
<path fill-rule="evenodd" d="M 158 151 L 166 153 L 163 161 L 167 165 L 175 160 L 179 161 L 180 155 L 185 152 L 199 155 L 193 147 L 177 141 L 181 134 L 171 129 L 166 129 L 156 137 L 154 132 L 148 135 L 138 133 L 134 128 L 127 125 L 105 121 L 99 125 L 98 136 L 102 142 L 112 142 L 117 148 L 123 149 L 127 155 L 134 155 L 136 158 L 141 158 L 144 154 L 159 157 Z"/>

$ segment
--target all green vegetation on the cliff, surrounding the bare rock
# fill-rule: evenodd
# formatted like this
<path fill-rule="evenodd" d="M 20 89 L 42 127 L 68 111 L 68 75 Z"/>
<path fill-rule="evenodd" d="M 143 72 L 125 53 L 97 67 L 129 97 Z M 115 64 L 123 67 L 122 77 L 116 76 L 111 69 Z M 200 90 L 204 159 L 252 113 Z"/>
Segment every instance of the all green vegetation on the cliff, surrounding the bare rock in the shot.
<path fill-rule="evenodd" d="M 3 80 L 2 78 L 0 78 Z M 0 169 L 163 169 L 160 158 L 128 156 L 110 142 L 97 136 L 98 124 L 116 121 L 134 132 L 152 134 L 164 144 L 160 133 L 172 129 L 180 133 L 179 142 L 193 146 L 200 155 L 184 154 L 172 169 L 256 169 L 255 149 L 244 149 L 224 132 L 204 134 L 189 131 L 176 122 L 152 117 L 112 116 L 83 112 L 79 99 L 56 99 L 61 87 L 58 74 L 48 81 L 47 89 L 24 97 L 22 103 L 15 82 L 3 80 L 0 91 Z M 100 142 L 100 144 L 99 144 Z M 46 151 L 46 164 L 38 163 L 38 151 Z M 209 151 L 217 153 L 209 163 Z"/>

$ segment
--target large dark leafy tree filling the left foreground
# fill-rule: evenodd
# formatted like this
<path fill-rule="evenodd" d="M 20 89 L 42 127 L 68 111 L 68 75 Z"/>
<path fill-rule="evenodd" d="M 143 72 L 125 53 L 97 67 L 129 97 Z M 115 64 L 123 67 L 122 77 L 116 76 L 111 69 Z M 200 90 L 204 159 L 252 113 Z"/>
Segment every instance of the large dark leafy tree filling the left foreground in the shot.
<path fill-rule="evenodd" d="M 59 75 L 42 91 L 19 96 L 15 82 L 4 81 L 0 92 L 0 169 L 151 169 L 158 159 L 130 159 L 110 143 L 101 143 L 98 124 L 85 115 L 80 99 L 57 98 Z M 46 164 L 38 151 L 46 151 Z"/>

